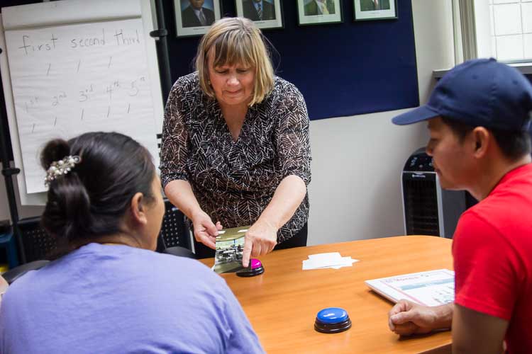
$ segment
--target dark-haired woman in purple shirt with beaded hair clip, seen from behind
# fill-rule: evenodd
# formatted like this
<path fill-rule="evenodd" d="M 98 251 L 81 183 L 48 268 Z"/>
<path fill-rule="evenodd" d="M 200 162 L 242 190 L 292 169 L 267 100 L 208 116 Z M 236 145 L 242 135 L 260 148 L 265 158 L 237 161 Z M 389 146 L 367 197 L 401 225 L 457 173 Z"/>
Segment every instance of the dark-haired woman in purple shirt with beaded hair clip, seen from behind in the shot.
<path fill-rule="evenodd" d="M 262 353 L 223 281 L 155 253 L 165 211 L 151 156 L 118 133 L 52 140 L 45 230 L 65 254 L 0 307 L 0 353 Z"/>

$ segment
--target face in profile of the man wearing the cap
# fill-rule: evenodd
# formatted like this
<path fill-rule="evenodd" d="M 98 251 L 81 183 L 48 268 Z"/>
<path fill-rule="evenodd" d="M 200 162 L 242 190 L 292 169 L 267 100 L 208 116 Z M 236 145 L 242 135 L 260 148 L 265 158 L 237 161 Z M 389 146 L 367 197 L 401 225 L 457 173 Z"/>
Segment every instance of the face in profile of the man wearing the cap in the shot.
<path fill-rule="evenodd" d="M 463 141 L 440 117 L 428 121 L 426 153 L 433 157 L 434 171 L 438 173 L 441 188 L 467 189 L 471 180 L 473 159 L 470 151 L 471 137 Z"/>

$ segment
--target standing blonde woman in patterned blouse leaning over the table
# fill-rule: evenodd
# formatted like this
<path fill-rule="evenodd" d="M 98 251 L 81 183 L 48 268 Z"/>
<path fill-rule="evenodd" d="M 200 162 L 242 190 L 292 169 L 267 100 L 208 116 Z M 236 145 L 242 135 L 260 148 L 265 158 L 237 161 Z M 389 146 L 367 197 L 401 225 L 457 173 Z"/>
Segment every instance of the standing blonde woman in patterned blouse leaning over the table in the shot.
<path fill-rule="evenodd" d="M 222 225 L 251 225 L 244 266 L 274 247 L 306 246 L 310 162 L 304 98 L 274 76 L 260 30 L 246 18 L 214 23 L 196 72 L 172 87 L 162 131 L 162 185 L 196 240 L 214 249 Z"/>

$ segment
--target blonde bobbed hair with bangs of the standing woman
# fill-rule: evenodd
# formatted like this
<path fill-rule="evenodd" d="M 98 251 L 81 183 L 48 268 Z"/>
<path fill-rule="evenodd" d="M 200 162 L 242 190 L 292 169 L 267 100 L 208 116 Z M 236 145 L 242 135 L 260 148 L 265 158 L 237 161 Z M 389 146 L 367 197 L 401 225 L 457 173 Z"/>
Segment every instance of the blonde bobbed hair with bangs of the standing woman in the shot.
<path fill-rule="evenodd" d="M 207 54 L 214 48 L 214 67 L 244 65 L 255 70 L 255 87 L 249 105 L 260 103 L 273 88 L 270 53 L 260 30 L 248 18 L 228 17 L 216 21 L 199 42 L 196 70 L 201 90 L 216 98 L 209 81 Z"/>

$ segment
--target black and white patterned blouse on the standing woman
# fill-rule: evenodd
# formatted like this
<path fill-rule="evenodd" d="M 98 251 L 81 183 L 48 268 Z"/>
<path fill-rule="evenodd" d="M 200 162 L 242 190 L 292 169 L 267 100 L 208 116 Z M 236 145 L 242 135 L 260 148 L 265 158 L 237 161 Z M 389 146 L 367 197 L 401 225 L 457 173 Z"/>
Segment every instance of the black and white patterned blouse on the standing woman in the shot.
<path fill-rule="evenodd" d="M 213 222 L 223 227 L 253 224 L 284 177 L 311 181 L 309 115 L 299 90 L 275 77 L 272 92 L 248 109 L 236 142 L 218 101 L 199 87 L 196 73 L 179 78 L 165 108 L 162 128 L 162 185 L 189 181 Z M 277 242 L 294 236 L 309 217 L 305 195 Z"/>

